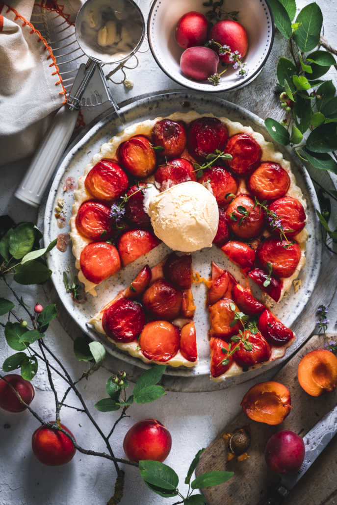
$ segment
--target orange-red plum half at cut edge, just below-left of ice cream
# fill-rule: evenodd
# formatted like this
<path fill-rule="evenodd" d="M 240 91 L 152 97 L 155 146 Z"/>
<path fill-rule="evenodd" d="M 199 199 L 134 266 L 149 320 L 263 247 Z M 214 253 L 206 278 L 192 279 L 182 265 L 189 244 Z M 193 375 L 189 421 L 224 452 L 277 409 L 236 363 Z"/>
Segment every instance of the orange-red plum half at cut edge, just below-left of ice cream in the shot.
<path fill-rule="evenodd" d="M 159 244 L 160 240 L 148 230 L 125 231 L 117 241 L 123 267 L 147 254 Z"/>

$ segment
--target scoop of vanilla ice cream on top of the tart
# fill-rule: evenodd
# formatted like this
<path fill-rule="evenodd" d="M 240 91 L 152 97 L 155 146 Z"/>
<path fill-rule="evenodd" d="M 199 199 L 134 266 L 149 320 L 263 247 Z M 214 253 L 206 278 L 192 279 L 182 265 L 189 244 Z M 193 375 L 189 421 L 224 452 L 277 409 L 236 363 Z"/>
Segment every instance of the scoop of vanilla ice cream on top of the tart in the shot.
<path fill-rule="evenodd" d="M 171 249 L 191 252 L 211 247 L 219 223 L 215 197 L 198 182 L 183 182 L 149 202 L 155 234 Z"/>

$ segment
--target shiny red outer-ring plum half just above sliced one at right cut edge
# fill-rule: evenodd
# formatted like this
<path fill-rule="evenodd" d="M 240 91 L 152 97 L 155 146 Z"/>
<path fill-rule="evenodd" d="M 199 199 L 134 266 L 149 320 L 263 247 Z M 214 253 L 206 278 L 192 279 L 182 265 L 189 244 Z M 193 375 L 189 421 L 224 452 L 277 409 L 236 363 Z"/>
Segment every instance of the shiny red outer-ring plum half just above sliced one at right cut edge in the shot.
<path fill-rule="evenodd" d="M 281 241 L 276 237 L 269 237 L 262 242 L 256 251 L 260 265 L 265 271 L 267 263 L 273 267 L 272 273 L 277 277 L 291 277 L 301 259 L 301 247 Z"/>

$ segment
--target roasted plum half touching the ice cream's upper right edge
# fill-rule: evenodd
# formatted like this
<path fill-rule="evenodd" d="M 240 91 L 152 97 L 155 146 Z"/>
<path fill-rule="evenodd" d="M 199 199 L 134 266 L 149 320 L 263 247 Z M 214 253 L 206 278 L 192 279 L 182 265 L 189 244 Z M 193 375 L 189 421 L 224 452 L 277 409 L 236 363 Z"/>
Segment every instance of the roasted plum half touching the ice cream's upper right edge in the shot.
<path fill-rule="evenodd" d="M 236 194 L 238 180 L 222 165 L 213 165 L 203 173 L 198 182 L 204 184 L 210 179 L 212 194 L 215 197 L 218 206 L 226 207 L 234 196 L 227 196 L 228 193 Z"/>

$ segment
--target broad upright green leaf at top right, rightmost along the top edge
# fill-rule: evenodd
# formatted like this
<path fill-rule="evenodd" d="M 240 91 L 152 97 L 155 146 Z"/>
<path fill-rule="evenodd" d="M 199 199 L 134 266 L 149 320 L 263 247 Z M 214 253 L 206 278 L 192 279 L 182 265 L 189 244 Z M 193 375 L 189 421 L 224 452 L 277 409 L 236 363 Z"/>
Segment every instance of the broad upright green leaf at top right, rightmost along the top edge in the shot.
<path fill-rule="evenodd" d="M 300 50 L 307 53 L 312 51 L 319 43 L 323 16 L 322 11 L 316 4 L 306 5 L 296 18 L 297 23 L 302 23 L 294 32 L 294 39 Z"/>

